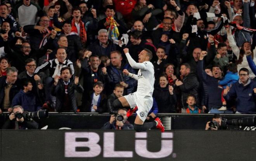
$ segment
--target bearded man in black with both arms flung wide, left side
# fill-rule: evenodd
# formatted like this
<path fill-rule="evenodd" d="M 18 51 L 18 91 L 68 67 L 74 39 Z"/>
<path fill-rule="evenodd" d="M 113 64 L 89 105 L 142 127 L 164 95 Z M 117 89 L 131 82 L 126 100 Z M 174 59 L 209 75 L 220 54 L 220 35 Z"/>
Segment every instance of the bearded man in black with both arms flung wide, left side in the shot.
<path fill-rule="evenodd" d="M 11 48 L 7 41 L 4 42 L 5 53 L 7 57 L 10 58 L 12 66 L 15 66 L 19 73 L 25 70 L 26 59 L 33 58 L 36 61 L 47 53 L 48 47 L 52 45 L 57 32 L 52 31 L 50 39 L 48 39 L 47 44 L 38 50 L 31 49 L 28 42 L 23 42 L 21 48 Z"/>

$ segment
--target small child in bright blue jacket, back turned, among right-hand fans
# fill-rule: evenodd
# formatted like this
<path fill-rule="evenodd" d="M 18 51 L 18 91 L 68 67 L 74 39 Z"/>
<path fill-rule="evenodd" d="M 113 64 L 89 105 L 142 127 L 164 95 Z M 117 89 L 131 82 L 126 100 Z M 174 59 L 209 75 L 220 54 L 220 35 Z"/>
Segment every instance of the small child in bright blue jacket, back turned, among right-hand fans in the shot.
<path fill-rule="evenodd" d="M 237 65 L 234 63 L 231 63 L 227 65 L 227 74 L 225 75 L 223 80 L 219 81 L 219 85 L 223 86 L 223 91 L 224 91 L 224 89 L 230 88 L 233 83 L 238 81 L 238 79 L 239 79 L 239 76 L 237 75 Z M 227 110 L 227 102 L 223 98 L 223 91 L 221 93 L 222 107 L 219 108 L 219 111 Z"/>

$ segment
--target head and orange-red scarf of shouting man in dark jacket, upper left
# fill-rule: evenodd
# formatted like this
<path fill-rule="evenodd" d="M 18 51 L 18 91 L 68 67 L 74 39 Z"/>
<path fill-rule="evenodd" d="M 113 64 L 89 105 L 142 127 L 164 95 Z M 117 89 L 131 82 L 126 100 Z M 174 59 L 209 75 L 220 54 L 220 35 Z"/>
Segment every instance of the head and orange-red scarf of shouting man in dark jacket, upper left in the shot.
<path fill-rule="evenodd" d="M 71 23 L 71 32 L 76 32 L 78 36 L 81 38 L 82 44 L 86 43 L 86 30 L 85 23 L 81 20 L 81 10 L 76 7 L 73 8 L 72 15 L 72 23 Z"/>

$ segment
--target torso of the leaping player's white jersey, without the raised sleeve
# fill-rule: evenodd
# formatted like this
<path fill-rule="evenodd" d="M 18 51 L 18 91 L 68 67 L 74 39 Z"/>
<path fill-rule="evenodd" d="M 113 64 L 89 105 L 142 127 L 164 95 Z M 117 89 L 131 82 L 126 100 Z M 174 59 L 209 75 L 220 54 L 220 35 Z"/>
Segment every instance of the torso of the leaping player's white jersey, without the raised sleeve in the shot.
<path fill-rule="evenodd" d="M 143 62 L 144 69 L 138 71 L 137 96 L 140 98 L 152 97 L 154 91 L 154 66 L 150 61 Z"/>

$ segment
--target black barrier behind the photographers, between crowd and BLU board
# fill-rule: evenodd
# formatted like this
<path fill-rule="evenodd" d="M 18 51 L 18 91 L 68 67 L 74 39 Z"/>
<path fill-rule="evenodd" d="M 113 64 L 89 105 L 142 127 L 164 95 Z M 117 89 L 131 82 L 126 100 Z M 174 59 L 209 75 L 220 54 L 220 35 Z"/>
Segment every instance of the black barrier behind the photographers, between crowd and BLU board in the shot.
<path fill-rule="evenodd" d="M 0 115 L 1 116 L 1 115 Z M 46 127 L 47 129 L 100 129 L 109 121 L 110 114 L 97 114 L 97 113 L 57 113 L 50 112 L 49 117 L 40 119 L 39 127 Z M 256 115 L 222 115 L 223 118 L 228 120 L 238 119 L 243 117 L 256 116 Z M 212 114 L 158 114 L 165 129 L 179 130 L 179 129 L 205 129 L 206 122 L 210 121 L 213 117 Z M 8 119 L 7 113 L 0 117 L 0 124 L 3 124 L 4 119 Z M 134 123 L 135 115 L 128 118 L 131 124 Z M 2 127 L 2 126 L 1 126 Z M 232 126 L 231 126 L 232 127 Z M 237 129 L 238 127 L 232 127 Z M 245 127 L 243 127 L 244 129 Z"/>

